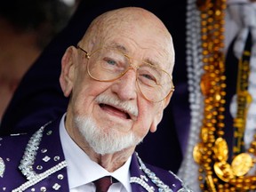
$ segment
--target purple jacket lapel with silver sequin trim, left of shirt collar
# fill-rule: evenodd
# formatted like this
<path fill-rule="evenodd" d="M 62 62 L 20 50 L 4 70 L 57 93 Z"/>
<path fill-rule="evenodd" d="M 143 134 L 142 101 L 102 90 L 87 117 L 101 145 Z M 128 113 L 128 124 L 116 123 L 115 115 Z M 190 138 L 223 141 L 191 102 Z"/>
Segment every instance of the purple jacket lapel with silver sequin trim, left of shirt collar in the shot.
<path fill-rule="evenodd" d="M 60 119 L 44 125 L 30 138 L 20 162 L 21 172 L 28 181 L 21 188 L 33 186 L 31 189 L 36 191 L 69 191 L 59 126 Z"/>

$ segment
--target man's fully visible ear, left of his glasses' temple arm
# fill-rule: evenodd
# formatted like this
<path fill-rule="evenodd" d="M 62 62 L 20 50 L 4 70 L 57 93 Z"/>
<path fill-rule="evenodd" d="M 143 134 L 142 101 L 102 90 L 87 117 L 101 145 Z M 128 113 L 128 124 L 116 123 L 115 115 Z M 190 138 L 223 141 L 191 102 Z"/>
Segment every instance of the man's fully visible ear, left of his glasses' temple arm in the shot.
<path fill-rule="evenodd" d="M 76 58 L 76 48 L 70 46 L 61 59 L 60 86 L 65 97 L 68 97 L 73 89 Z"/>

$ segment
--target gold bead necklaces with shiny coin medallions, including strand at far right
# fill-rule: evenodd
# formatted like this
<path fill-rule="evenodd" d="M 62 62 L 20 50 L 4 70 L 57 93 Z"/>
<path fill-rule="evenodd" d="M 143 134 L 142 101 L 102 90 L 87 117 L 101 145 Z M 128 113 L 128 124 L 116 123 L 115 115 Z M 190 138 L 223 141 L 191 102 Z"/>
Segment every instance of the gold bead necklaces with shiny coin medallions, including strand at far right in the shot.
<path fill-rule="evenodd" d="M 234 158 L 228 164 L 228 144 L 224 135 L 224 12 L 225 0 L 197 1 L 201 12 L 201 36 L 203 47 L 204 75 L 201 91 L 204 95 L 204 119 L 201 126 L 201 141 L 196 145 L 193 156 L 200 165 L 199 180 L 203 191 L 237 191 L 256 189 L 256 176 L 247 174 L 253 166 L 256 141 L 252 141 L 248 153 L 244 151 L 244 129 L 248 105 L 252 97 L 248 90 L 248 52 L 239 62 L 237 76 L 237 110 L 234 119 Z M 246 58 L 247 57 L 247 58 Z M 249 57 L 250 59 L 250 57 Z M 251 155 L 250 155 L 251 153 Z M 247 175 L 246 175 L 247 174 Z M 246 175 L 246 176 L 244 176 Z"/>

